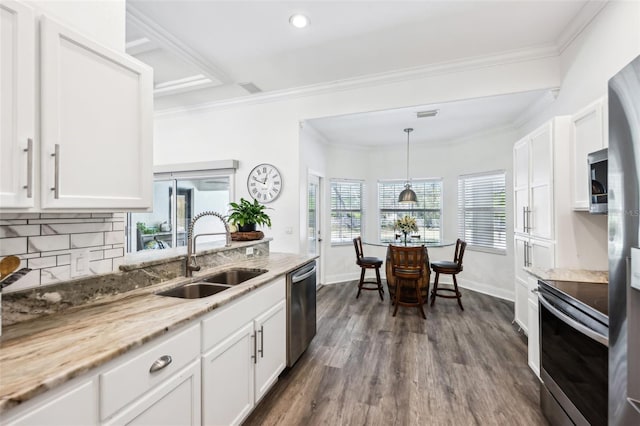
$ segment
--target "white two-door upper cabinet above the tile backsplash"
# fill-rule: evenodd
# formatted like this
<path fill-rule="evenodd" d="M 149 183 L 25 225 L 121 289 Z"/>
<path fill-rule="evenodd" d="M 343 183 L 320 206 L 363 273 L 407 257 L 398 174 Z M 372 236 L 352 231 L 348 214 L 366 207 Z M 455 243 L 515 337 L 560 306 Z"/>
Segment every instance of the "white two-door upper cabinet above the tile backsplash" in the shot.
<path fill-rule="evenodd" d="M 151 208 L 152 69 L 21 3 L 0 14 L 0 211 Z"/>

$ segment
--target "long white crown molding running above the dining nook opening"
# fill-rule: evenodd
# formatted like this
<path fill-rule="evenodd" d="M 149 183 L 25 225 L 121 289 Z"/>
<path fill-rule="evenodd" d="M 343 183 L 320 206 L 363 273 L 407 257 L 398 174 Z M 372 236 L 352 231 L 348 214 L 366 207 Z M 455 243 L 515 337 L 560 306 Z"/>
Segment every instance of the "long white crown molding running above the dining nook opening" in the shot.
<path fill-rule="evenodd" d="M 293 89 L 274 90 L 251 96 L 242 96 L 234 99 L 206 102 L 184 107 L 173 107 L 155 112 L 155 116 L 161 117 L 181 112 L 192 112 L 207 109 L 226 109 L 236 106 L 262 104 L 268 102 L 295 99 L 307 96 L 316 96 L 331 92 L 354 90 L 372 86 L 398 83 L 434 77 L 443 74 L 459 73 L 481 68 L 490 68 L 519 62 L 528 62 L 537 59 L 557 57 L 558 50 L 555 45 L 542 45 L 529 49 L 519 49 L 503 52 L 495 55 L 465 58 L 456 61 L 441 62 L 438 64 L 407 68 L 399 71 L 371 74 L 364 77 L 356 77 L 337 80 L 328 83 L 301 86 Z"/>

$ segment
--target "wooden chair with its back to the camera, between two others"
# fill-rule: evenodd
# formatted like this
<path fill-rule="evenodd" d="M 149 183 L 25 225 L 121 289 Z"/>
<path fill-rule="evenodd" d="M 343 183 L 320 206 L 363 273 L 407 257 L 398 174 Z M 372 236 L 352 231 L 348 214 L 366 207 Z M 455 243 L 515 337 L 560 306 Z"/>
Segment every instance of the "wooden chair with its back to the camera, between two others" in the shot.
<path fill-rule="evenodd" d="M 390 245 L 391 253 L 391 273 L 395 278 L 396 289 L 393 316 L 398 312 L 398 306 L 417 307 L 418 314 L 427 319 L 422 305 L 422 295 L 420 291 L 420 279 L 425 267 L 424 246 L 400 247 Z"/>

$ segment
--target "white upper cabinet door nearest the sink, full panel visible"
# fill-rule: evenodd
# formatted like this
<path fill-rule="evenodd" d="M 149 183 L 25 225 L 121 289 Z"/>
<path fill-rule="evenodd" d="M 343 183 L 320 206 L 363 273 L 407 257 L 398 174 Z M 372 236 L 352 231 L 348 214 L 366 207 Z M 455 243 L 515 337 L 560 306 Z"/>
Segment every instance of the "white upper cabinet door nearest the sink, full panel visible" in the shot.
<path fill-rule="evenodd" d="M 152 207 L 152 71 L 41 21 L 45 209 Z"/>

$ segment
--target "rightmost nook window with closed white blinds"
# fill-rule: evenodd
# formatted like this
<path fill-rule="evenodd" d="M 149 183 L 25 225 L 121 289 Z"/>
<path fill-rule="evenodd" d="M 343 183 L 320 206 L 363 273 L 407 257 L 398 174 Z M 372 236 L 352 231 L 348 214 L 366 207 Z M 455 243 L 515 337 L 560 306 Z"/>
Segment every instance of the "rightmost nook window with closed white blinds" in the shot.
<path fill-rule="evenodd" d="M 458 229 L 468 247 L 506 253 L 505 172 L 458 178 Z"/>

